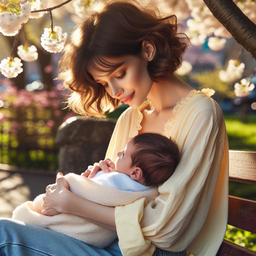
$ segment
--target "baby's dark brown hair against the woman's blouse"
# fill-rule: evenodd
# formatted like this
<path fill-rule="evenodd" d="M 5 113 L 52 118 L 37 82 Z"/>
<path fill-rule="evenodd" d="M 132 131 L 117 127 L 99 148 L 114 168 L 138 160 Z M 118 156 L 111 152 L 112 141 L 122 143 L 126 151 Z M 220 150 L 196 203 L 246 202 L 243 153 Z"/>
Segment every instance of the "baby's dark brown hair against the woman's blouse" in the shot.
<path fill-rule="evenodd" d="M 132 138 L 136 150 L 131 166 L 142 169 L 144 185 L 157 186 L 168 180 L 180 162 L 177 143 L 160 133 L 141 133 Z"/>

